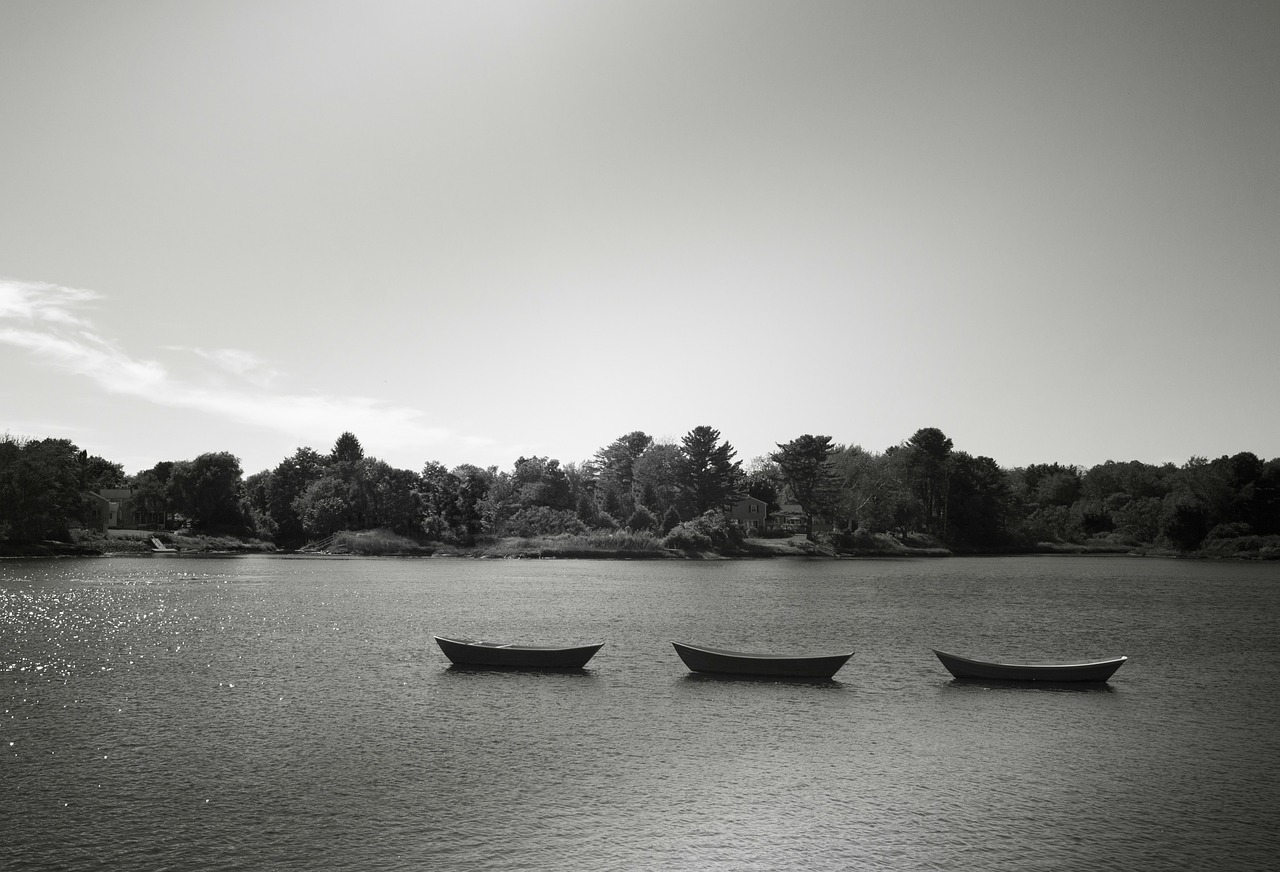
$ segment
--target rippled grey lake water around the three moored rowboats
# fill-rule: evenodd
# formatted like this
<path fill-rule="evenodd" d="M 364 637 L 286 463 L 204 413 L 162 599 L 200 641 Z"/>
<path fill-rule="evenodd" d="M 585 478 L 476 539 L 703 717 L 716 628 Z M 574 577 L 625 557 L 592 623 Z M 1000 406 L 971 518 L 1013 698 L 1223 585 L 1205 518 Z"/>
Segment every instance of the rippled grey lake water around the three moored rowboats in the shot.
<path fill-rule="evenodd" d="M 0 868 L 1270 869 L 1277 618 L 1275 563 L 0 561 Z M 672 639 L 856 653 L 733 681 Z"/>

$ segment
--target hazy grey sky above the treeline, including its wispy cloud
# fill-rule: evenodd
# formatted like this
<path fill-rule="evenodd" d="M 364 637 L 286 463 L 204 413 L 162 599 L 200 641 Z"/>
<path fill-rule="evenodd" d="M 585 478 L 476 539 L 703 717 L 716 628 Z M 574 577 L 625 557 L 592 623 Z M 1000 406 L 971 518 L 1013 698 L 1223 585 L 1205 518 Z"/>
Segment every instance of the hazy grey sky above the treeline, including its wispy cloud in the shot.
<path fill-rule="evenodd" d="M 0 0 L 0 433 L 1276 457 L 1277 45 L 1268 0 Z"/>

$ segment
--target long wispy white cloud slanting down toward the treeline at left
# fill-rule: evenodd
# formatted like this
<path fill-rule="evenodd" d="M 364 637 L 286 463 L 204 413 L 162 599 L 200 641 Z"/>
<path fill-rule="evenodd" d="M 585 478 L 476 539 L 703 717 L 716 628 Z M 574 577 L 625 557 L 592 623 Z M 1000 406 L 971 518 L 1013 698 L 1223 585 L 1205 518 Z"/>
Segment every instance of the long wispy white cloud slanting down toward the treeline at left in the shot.
<path fill-rule="evenodd" d="M 367 397 L 271 392 L 268 388 L 279 374 L 248 351 L 170 347 L 241 376 L 243 383 L 228 387 L 216 379 L 179 379 L 159 361 L 133 357 L 95 330 L 79 310 L 101 298 L 92 291 L 0 279 L 0 343 L 88 378 L 111 393 L 291 435 L 324 442 L 335 433 L 352 430 L 376 434 L 378 444 L 388 448 L 457 439 L 447 429 L 428 424 L 416 408 Z"/>

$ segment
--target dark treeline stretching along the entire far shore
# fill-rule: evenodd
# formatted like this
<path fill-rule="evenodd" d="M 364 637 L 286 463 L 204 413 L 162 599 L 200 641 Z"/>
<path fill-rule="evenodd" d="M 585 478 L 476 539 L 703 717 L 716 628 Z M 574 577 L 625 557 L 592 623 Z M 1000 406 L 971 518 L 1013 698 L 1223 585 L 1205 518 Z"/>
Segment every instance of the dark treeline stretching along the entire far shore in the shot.
<path fill-rule="evenodd" d="M 1107 461 L 1006 470 L 925 428 L 879 453 L 800 435 L 744 467 L 718 430 L 698 426 L 678 443 L 637 430 L 581 464 L 520 457 L 509 470 L 438 462 L 396 469 L 343 433 L 328 453 L 298 448 L 247 479 L 227 452 L 125 476 L 68 440 L 5 435 L 0 538 L 65 538 L 96 517 L 87 494 L 114 487 L 133 488 L 136 511 L 148 517 L 284 548 L 369 529 L 463 547 L 480 537 L 617 530 L 681 545 L 732 534 L 723 508 L 742 496 L 771 512 L 799 505 L 810 534 L 846 549 L 881 533 L 923 533 L 957 551 L 1091 542 L 1184 552 L 1234 542 L 1257 549 L 1260 542 L 1274 548 L 1265 539 L 1280 535 L 1280 460 L 1249 452 L 1181 466 Z"/>

